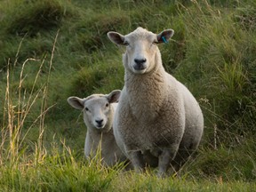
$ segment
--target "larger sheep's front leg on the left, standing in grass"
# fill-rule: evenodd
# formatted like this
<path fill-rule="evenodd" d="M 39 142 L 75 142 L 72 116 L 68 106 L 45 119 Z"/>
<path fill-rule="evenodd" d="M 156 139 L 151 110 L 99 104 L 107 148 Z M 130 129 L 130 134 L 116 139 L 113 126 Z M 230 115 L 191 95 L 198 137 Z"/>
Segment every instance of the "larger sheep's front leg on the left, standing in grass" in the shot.
<path fill-rule="evenodd" d="M 135 172 L 143 171 L 145 167 L 145 163 L 143 161 L 143 155 L 141 154 L 141 152 L 139 150 L 130 151 L 128 152 L 128 156 L 130 157 L 130 160 L 132 162 Z"/>

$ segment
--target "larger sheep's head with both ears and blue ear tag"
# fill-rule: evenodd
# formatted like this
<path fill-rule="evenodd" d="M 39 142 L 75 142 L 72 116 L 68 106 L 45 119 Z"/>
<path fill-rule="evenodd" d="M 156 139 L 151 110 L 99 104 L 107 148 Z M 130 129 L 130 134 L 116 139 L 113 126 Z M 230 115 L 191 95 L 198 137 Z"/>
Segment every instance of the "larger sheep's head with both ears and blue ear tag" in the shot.
<path fill-rule="evenodd" d="M 144 74 L 156 67 L 156 57 L 161 60 L 157 44 L 167 42 L 173 34 L 172 29 L 156 35 L 145 28 L 137 28 L 126 36 L 110 31 L 108 38 L 115 44 L 126 46 L 124 67 L 135 74 Z"/>

